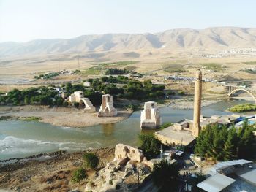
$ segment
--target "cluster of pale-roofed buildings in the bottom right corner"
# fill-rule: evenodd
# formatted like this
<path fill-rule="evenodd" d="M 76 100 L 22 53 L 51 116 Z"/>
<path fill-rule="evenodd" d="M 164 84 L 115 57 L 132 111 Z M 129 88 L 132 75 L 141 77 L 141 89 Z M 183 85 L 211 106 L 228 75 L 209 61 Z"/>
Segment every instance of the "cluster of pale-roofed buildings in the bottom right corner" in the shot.
<path fill-rule="evenodd" d="M 206 180 L 197 184 L 203 191 L 255 191 L 256 166 L 252 161 L 223 161 L 209 169 Z"/>

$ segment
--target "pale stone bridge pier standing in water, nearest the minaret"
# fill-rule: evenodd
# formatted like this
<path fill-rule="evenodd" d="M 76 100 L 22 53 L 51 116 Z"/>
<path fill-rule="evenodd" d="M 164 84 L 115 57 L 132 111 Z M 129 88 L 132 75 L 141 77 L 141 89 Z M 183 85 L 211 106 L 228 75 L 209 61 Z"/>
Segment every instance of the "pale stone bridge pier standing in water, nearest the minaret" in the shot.
<path fill-rule="evenodd" d="M 161 124 L 162 120 L 157 103 L 154 101 L 145 102 L 144 109 L 140 115 L 140 128 L 159 128 Z"/>

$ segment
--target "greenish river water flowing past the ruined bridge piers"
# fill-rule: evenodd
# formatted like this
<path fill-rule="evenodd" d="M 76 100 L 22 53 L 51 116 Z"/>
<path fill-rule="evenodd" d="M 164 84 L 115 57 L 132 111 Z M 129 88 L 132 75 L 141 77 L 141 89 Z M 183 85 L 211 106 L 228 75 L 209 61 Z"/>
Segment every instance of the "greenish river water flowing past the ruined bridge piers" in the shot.
<path fill-rule="evenodd" d="M 226 115 L 228 107 L 249 101 L 224 100 L 203 107 L 204 116 Z M 160 108 L 163 122 L 177 122 L 183 118 L 192 119 L 192 110 Z M 52 126 L 48 123 L 20 120 L 0 121 L 0 160 L 25 157 L 56 150 L 85 150 L 88 147 L 108 147 L 117 143 L 136 146 L 140 134 L 140 111 L 119 123 L 69 128 Z"/>

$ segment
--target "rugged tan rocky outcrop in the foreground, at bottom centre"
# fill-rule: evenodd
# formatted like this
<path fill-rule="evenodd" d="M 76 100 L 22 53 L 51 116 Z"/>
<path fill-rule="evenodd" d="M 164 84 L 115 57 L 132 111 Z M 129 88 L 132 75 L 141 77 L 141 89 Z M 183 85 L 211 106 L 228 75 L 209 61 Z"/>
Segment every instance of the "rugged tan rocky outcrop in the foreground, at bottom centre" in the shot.
<path fill-rule="evenodd" d="M 97 172 L 84 191 L 137 191 L 138 181 L 143 183 L 151 173 L 151 167 L 144 162 L 146 158 L 141 150 L 118 144 L 114 160 Z"/>

